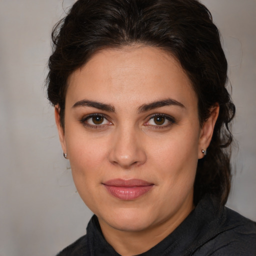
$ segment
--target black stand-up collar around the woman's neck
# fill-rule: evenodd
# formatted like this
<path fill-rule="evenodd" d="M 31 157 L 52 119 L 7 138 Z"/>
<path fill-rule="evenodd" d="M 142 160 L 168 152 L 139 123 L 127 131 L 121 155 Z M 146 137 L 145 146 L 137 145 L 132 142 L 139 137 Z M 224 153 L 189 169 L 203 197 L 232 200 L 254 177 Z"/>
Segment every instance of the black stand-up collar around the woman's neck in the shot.
<path fill-rule="evenodd" d="M 205 195 L 190 214 L 158 244 L 139 256 L 190 255 L 207 240 L 216 236 L 223 218 L 218 200 Z M 87 244 L 91 255 L 119 256 L 102 235 L 98 219 L 92 216 L 87 226 Z"/>

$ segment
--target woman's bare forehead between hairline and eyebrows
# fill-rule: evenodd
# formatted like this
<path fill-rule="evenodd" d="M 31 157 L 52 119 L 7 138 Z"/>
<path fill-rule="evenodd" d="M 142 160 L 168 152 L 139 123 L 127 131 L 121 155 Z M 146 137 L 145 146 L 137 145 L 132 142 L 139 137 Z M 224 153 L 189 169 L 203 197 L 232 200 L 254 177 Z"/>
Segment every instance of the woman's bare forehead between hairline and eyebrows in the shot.
<path fill-rule="evenodd" d="M 140 104 L 164 97 L 178 100 L 182 95 L 197 101 L 188 76 L 172 55 L 156 47 L 127 46 L 95 53 L 69 76 L 66 97 Z"/>

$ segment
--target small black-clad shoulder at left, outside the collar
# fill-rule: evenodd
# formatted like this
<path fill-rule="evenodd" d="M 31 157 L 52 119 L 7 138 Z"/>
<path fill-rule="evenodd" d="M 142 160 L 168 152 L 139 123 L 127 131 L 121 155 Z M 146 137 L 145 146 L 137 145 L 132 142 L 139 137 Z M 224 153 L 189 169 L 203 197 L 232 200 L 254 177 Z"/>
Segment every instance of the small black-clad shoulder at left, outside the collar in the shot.
<path fill-rule="evenodd" d="M 81 256 L 87 255 L 87 236 L 86 234 L 81 236 L 75 242 L 68 245 L 66 248 L 61 250 L 56 256 Z"/>

